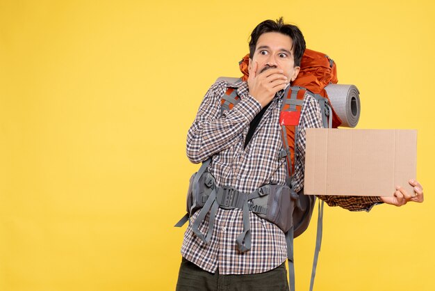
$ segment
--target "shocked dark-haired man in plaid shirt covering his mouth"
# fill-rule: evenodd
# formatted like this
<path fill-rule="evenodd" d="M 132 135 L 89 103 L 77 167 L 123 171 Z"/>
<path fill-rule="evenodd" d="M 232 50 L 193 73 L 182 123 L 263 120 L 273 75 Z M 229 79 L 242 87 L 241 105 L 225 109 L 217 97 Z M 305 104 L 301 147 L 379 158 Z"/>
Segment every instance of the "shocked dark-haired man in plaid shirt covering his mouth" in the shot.
<path fill-rule="evenodd" d="M 221 100 L 229 84 L 213 84 L 206 93 L 187 139 L 191 162 L 211 158 L 207 170 L 217 186 L 251 193 L 264 184 L 285 184 L 286 164 L 279 157 L 282 147 L 279 113 L 284 89 L 295 80 L 304 54 L 305 40 L 297 26 L 266 20 L 252 31 L 249 41 L 249 79 L 236 84 L 240 102 L 221 114 Z M 320 107 L 307 95 L 302 105 L 295 144 L 295 173 L 292 184 L 304 184 L 305 129 L 322 127 Z M 410 181 L 415 194 L 398 187 L 388 198 L 320 196 L 328 205 L 348 210 L 366 210 L 377 203 L 404 205 L 422 202 L 421 185 Z M 192 215 L 195 221 L 199 211 Z M 288 290 L 285 261 L 286 238 L 273 223 L 249 212 L 251 247 L 240 251 L 236 239 L 243 233 L 243 211 L 219 208 L 199 226 L 202 233 L 214 221 L 210 242 L 186 230 L 177 290 Z"/>

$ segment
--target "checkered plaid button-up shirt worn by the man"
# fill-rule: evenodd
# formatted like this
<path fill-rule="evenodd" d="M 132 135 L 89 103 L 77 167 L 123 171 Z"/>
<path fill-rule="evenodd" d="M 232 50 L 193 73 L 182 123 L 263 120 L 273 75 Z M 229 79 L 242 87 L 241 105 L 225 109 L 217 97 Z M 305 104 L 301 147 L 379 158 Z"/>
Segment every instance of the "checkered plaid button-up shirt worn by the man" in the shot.
<path fill-rule="evenodd" d="M 284 91 L 275 95 L 265 111 L 251 141 L 244 148 L 249 123 L 261 111 L 261 105 L 249 95 L 246 82 L 237 88 L 240 102 L 221 115 L 222 96 L 230 86 L 220 81 L 208 90 L 192 127 L 188 131 L 187 155 L 191 162 L 204 162 L 212 158 L 208 166 L 217 186 L 231 186 L 249 193 L 263 184 L 285 184 L 285 159 L 279 157 L 282 148 L 279 113 Z M 318 102 L 306 95 L 302 104 L 297 144 L 295 145 L 295 173 L 293 189 L 304 185 L 305 129 L 322 127 Z M 348 210 L 370 210 L 380 200 L 377 197 L 319 196 L 328 205 L 339 205 Z M 192 215 L 195 221 L 199 211 Z M 199 230 L 206 233 L 208 214 Z M 181 247 L 181 255 L 207 272 L 220 274 L 257 274 L 281 265 L 287 258 L 286 238 L 273 223 L 249 212 L 252 246 L 245 253 L 238 250 L 236 237 L 243 232 L 242 210 L 219 208 L 211 242 L 205 244 L 188 226 Z"/>

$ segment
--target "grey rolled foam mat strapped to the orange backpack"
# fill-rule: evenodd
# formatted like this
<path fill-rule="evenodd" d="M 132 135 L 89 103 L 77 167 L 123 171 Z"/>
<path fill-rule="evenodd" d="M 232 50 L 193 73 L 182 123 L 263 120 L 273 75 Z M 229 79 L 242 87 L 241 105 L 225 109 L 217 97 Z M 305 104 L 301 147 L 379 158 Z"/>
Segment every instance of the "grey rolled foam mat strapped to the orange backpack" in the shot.
<path fill-rule="evenodd" d="M 361 104 L 359 91 L 354 85 L 329 84 L 325 87 L 331 105 L 343 121 L 341 127 L 355 127 L 358 124 Z"/>

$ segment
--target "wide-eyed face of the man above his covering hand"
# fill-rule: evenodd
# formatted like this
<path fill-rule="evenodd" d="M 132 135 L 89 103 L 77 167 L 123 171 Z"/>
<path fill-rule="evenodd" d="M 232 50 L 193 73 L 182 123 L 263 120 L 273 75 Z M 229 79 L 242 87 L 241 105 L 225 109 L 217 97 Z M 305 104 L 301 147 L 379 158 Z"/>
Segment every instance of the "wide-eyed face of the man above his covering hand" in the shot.
<path fill-rule="evenodd" d="M 279 68 L 284 75 L 294 81 L 299 73 L 299 67 L 295 67 L 293 55 L 293 40 L 278 32 L 263 33 L 257 40 L 252 59 L 249 58 L 249 71 L 258 64 L 257 74 L 261 74 L 270 68 Z"/>

